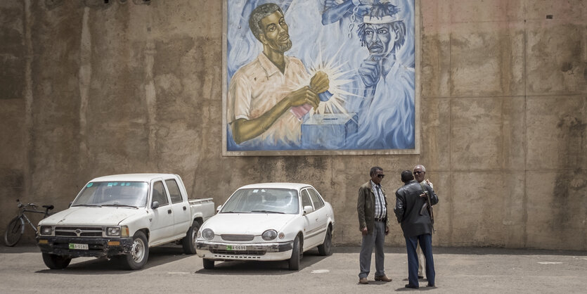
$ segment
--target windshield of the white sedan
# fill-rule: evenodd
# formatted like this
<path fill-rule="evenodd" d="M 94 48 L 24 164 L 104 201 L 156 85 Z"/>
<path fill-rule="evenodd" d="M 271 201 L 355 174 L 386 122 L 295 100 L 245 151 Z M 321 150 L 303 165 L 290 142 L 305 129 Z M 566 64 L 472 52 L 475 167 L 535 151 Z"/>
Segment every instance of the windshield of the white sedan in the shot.
<path fill-rule="evenodd" d="M 236 191 L 220 213 L 287 213 L 297 214 L 299 202 L 296 190 L 279 188 L 249 188 Z"/>

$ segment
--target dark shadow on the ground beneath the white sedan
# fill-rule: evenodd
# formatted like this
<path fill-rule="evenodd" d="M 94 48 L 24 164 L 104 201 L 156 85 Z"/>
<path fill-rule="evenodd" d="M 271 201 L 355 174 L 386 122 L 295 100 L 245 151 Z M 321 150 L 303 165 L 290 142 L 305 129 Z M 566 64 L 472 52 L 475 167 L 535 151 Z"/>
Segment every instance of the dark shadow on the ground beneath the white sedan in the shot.
<path fill-rule="evenodd" d="M 328 256 L 322 256 L 317 249 L 312 249 L 304 253 L 302 260 L 299 260 L 299 270 L 320 262 Z M 214 269 L 199 269 L 195 274 L 230 274 L 240 276 L 258 276 L 258 275 L 286 275 L 294 274 L 296 271 L 288 269 L 288 261 L 257 261 L 257 260 L 231 260 L 226 262 L 215 262 Z"/>

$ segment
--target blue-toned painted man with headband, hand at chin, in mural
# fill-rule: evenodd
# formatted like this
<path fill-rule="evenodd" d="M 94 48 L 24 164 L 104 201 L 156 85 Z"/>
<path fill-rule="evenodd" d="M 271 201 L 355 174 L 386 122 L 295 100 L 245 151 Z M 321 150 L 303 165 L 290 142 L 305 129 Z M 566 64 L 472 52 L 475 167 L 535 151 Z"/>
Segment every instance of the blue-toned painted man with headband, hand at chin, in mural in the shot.
<path fill-rule="evenodd" d="M 373 4 L 358 35 L 369 56 L 359 68 L 365 86 L 359 107 L 357 146 L 414 148 L 414 69 L 399 63 L 406 25 L 400 8 L 387 1 Z"/>

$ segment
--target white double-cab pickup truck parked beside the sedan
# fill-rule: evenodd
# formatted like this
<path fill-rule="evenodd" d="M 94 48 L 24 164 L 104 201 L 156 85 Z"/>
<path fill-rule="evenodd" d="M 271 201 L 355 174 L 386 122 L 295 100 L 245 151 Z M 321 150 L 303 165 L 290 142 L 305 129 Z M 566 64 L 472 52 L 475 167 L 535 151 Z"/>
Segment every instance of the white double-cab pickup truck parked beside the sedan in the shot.
<path fill-rule="evenodd" d="M 50 269 L 74 257 L 108 257 L 141 269 L 149 248 L 181 243 L 195 254 L 200 226 L 214 215 L 212 198 L 188 200 L 176 174 L 117 174 L 89 181 L 67 210 L 39 222 L 37 245 Z"/>

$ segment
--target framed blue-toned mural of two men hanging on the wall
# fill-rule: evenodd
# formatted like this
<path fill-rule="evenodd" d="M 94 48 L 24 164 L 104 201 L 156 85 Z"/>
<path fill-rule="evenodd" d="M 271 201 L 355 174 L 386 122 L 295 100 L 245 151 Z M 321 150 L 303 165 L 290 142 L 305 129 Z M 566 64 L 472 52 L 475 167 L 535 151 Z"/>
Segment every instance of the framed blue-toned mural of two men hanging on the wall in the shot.
<path fill-rule="evenodd" d="M 225 0 L 223 155 L 420 152 L 419 0 Z"/>

